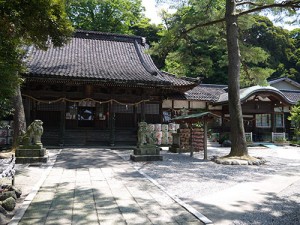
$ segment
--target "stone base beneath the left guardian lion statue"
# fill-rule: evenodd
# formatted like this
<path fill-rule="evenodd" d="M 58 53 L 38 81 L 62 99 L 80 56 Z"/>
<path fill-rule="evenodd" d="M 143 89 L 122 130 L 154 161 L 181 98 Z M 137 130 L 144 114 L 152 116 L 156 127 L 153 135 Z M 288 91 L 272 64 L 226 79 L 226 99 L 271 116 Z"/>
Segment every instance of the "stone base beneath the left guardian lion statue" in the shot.
<path fill-rule="evenodd" d="M 41 149 L 16 149 L 16 163 L 46 163 L 48 154 L 45 148 Z"/>

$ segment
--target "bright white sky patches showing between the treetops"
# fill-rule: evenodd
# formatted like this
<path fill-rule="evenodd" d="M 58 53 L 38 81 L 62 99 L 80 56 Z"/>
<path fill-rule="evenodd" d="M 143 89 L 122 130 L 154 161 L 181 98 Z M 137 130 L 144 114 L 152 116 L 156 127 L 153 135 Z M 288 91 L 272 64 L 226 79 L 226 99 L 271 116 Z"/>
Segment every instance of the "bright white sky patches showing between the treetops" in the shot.
<path fill-rule="evenodd" d="M 167 8 L 167 6 L 160 6 L 157 8 L 155 5 L 155 0 L 142 0 L 142 5 L 145 7 L 145 16 L 151 20 L 151 23 L 159 24 L 161 23 L 161 19 L 158 16 L 159 11 L 162 8 Z M 299 28 L 299 26 L 289 26 L 287 24 L 274 23 L 276 26 L 283 26 L 285 29 L 292 30 L 294 28 Z"/>

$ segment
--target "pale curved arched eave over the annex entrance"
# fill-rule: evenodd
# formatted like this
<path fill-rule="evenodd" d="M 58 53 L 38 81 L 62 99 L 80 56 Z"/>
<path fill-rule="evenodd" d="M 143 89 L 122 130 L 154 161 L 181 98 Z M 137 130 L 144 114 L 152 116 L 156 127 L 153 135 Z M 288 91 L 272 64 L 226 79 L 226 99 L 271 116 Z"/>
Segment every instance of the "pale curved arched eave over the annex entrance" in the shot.
<path fill-rule="evenodd" d="M 282 102 L 284 102 L 287 105 L 295 104 L 295 102 L 288 99 L 281 91 L 279 91 L 276 88 L 273 88 L 273 87 L 258 87 L 258 86 L 250 87 L 246 91 L 242 92 L 241 95 L 240 95 L 240 101 L 241 101 L 241 103 L 243 103 L 247 99 L 249 99 L 251 96 L 259 95 L 259 94 L 263 94 L 263 93 L 267 93 L 267 94 L 270 94 L 270 95 L 273 95 L 273 96 L 274 95 L 278 96 L 282 100 Z M 227 96 L 228 96 L 228 94 L 227 94 Z M 214 105 L 226 105 L 226 104 L 228 104 L 228 97 L 227 97 L 226 100 L 217 101 L 217 102 L 214 103 Z"/>

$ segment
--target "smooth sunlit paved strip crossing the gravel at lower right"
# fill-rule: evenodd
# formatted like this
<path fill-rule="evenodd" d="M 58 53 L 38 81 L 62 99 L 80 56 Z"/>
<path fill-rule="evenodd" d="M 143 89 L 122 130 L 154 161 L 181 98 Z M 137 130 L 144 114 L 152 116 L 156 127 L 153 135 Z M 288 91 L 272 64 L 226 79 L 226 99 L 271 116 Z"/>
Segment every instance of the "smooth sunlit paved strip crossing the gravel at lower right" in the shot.
<path fill-rule="evenodd" d="M 247 212 L 249 214 L 256 212 L 258 206 L 271 214 L 272 209 L 266 203 L 276 204 L 272 203 L 271 200 L 284 189 L 299 181 L 299 176 L 275 175 L 262 181 L 237 184 L 217 193 L 194 199 L 190 204 L 210 218 L 215 225 L 239 224 L 234 221 Z M 284 202 L 281 203 L 284 204 Z M 255 216 L 252 217 L 255 219 Z M 249 221 L 249 224 L 252 223 Z M 272 224 L 275 222 L 273 221 Z"/>

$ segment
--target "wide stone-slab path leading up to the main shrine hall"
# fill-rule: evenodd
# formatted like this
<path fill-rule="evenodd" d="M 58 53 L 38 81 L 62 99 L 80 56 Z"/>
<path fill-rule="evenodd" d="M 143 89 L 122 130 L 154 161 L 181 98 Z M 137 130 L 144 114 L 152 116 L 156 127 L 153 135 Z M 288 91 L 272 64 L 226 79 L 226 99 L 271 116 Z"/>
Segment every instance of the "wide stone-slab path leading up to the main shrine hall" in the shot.
<path fill-rule="evenodd" d="M 50 169 L 10 224 L 203 224 L 110 150 L 63 149 Z"/>

